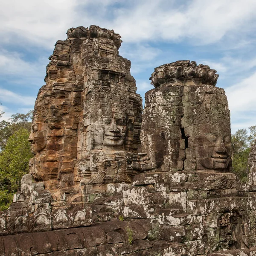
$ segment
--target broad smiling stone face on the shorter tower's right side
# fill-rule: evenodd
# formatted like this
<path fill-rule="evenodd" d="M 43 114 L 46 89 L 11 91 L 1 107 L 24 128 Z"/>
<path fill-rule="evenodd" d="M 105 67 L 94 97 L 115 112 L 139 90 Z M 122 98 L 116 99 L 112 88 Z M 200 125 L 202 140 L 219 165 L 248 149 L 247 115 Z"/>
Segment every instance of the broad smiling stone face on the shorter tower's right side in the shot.
<path fill-rule="evenodd" d="M 227 125 L 227 124 L 226 124 Z M 196 125 L 199 135 L 193 138 L 197 169 L 224 171 L 230 163 L 231 137 L 225 124 Z"/>

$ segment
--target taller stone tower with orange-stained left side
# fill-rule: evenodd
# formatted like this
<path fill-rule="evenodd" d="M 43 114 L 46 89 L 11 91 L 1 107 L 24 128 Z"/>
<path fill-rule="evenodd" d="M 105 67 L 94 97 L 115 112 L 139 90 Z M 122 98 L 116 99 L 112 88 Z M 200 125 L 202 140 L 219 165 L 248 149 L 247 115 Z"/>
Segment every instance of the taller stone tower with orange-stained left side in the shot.
<path fill-rule="evenodd" d="M 87 183 L 129 182 L 138 169 L 142 99 L 121 37 L 71 28 L 49 57 L 32 122 L 32 175 L 56 198 Z M 77 194 L 70 200 L 80 200 Z"/>

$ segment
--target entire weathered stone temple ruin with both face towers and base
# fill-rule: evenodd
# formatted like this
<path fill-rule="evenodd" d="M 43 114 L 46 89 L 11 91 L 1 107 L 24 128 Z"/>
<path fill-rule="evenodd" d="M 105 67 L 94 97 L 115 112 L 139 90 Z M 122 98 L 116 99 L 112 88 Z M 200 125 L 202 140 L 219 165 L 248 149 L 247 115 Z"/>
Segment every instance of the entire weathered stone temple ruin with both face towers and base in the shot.
<path fill-rule="evenodd" d="M 143 109 L 120 38 L 80 26 L 56 42 L 0 256 L 256 255 L 256 146 L 241 183 L 217 71 L 155 68 Z"/>

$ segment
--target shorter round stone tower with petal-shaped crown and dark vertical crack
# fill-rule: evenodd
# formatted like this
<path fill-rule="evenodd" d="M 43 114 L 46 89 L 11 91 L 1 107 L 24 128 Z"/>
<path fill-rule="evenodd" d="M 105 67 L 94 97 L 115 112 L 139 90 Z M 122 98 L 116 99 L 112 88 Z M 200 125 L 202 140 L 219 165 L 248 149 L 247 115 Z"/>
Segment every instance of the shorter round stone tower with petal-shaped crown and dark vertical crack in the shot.
<path fill-rule="evenodd" d="M 216 72 L 195 61 L 155 69 L 143 112 L 145 172 L 230 171 L 230 111 L 224 90 L 215 87 Z"/>

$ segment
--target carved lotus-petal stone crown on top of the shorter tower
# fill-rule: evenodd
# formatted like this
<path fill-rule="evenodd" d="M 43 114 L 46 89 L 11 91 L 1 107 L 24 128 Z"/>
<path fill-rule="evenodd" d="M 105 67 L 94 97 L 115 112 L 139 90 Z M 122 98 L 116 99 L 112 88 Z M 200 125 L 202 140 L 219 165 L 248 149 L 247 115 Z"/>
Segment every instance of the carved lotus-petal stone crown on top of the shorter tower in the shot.
<path fill-rule="evenodd" d="M 156 88 L 167 86 L 170 82 L 177 80 L 189 79 L 215 86 L 218 80 L 216 72 L 216 70 L 210 69 L 207 65 L 199 64 L 197 66 L 195 61 L 176 61 L 156 67 L 150 80 L 151 84 Z"/>

